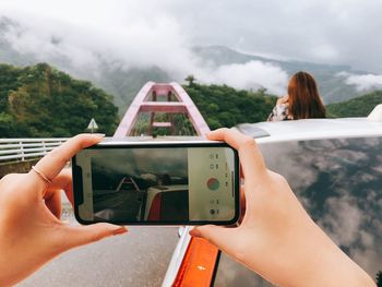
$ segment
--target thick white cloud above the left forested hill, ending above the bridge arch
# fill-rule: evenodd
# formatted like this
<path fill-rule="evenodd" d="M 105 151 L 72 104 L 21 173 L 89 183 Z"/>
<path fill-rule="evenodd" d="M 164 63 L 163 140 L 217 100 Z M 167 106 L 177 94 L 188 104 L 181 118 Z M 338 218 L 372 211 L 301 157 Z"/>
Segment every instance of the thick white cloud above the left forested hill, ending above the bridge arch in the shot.
<path fill-rule="evenodd" d="M 28 21 L 15 19 L 21 25 L 12 27 L 5 39 L 14 49 L 34 53 L 38 60 L 64 56 L 81 68 L 102 59 L 120 62 L 127 69 L 157 65 L 175 73 L 194 65 L 186 48 L 187 38 L 171 17 L 136 21 L 116 27 L 112 33 L 107 27 L 77 27 L 52 20 L 44 23 L 40 19 L 35 21 L 34 15 L 28 15 Z"/>

